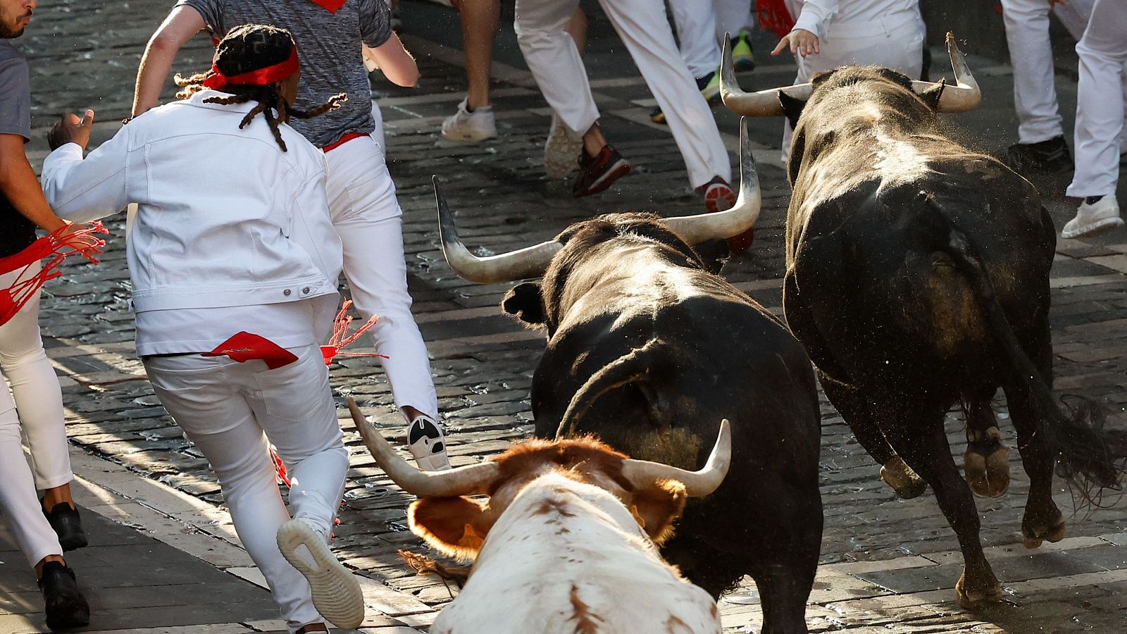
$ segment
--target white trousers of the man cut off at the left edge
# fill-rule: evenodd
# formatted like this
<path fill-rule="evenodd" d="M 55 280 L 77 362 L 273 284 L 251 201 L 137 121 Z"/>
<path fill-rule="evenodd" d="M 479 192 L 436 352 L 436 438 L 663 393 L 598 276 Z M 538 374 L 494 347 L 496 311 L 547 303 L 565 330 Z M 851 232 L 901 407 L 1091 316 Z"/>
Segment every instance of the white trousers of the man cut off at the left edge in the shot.
<path fill-rule="evenodd" d="M 39 264 L 0 275 L 0 289 L 28 279 Z M 33 566 L 47 555 L 62 555 L 59 537 L 43 516 L 36 488 L 73 479 L 66 452 L 63 399 L 59 379 L 39 338 L 39 293 L 0 326 L 0 507 L 11 522 L 20 551 Z M 9 391 L 8 388 L 11 388 Z M 15 397 L 15 399 L 14 399 Z M 20 429 L 33 465 L 24 457 Z"/>

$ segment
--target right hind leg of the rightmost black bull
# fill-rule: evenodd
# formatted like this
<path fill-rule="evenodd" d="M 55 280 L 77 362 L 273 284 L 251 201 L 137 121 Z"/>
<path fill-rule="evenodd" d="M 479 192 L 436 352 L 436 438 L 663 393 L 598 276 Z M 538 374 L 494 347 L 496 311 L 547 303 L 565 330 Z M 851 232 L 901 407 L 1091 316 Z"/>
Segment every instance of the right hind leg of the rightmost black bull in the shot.
<path fill-rule="evenodd" d="M 1046 385 L 1053 385 L 1053 344 L 1048 325 L 1037 337 L 1030 360 L 1037 366 Z M 1027 349 L 1029 351 L 1029 349 Z M 1036 548 L 1041 541 L 1059 541 L 1065 536 L 1064 516 L 1053 501 L 1053 464 L 1055 458 L 1044 433 L 1037 433 L 1037 410 L 1028 390 L 1019 385 L 1005 387 L 1010 403 L 1010 417 L 1018 430 L 1018 450 L 1021 464 L 1029 475 L 1029 497 L 1026 514 L 1021 520 L 1021 536 L 1027 548 Z M 1042 421 L 1042 424 L 1050 424 Z"/>

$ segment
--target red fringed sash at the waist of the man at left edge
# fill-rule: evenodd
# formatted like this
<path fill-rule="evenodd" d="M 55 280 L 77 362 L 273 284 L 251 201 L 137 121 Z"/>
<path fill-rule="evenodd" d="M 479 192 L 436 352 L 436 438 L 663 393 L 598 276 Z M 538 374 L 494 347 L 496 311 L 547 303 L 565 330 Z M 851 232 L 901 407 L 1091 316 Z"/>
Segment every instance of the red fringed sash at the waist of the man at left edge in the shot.
<path fill-rule="evenodd" d="M 73 229 L 73 224 L 68 224 L 35 240 L 26 249 L 15 255 L 0 257 L 0 275 L 25 268 L 45 257 L 51 258 L 44 263 L 38 273 L 27 280 L 20 279 L 23 278 L 20 274 L 20 278 L 17 278 L 11 287 L 0 289 L 0 325 L 6 324 L 19 312 L 19 309 L 35 297 L 35 293 L 43 288 L 47 280 L 54 280 L 63 274 L 62 271 L 55 270 L 62 265 L 66 256 L 79 254 L 92 264 L 97 264 L 98 261 L 94 256 L 101 253 L 106 240 L 96 238 L 94 235 L 108 232 L 101 222 L 91 222 L 78 230 Z"/>

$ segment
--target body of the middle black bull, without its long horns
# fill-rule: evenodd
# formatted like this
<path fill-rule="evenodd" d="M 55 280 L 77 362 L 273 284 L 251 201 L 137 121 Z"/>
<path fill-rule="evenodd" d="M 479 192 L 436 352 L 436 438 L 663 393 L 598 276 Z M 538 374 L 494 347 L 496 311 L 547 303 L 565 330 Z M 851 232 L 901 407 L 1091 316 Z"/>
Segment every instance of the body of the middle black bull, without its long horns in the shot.
<path fill-rule="evenodd" d="M 746 147 L 744 164 L 746 188 Z M 593 433 L 632 457 L 695 469 L 730 420 L 728 476 L 689 503 L 663 555 L 713 597 L 749 574 L 763 631 L 807 632 L 820 429 L 801 345 L 655 214 L 598 217 L 557 240 L 542 282 L 503 301 L 548 333 L 532 385 L 536 435 Z"/>

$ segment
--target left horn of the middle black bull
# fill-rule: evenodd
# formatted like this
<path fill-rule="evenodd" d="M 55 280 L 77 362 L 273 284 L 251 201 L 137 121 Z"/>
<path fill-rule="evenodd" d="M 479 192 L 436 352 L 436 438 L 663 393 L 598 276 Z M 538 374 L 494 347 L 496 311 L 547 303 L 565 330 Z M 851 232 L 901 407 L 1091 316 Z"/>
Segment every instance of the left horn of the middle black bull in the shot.
<path fill-rule="evenodd" d="M 548 268 L 552 256 L 564 246 L 557 240 L 549 240 L 500 255 L 488 257 L 473 255 L 458 237 L 454 214 L 450 212 L 446 199 L 438 187 L 438 177 L 434 176 L 433 179 L 435 203 L 438 205 L 438 237 L 442 239 L 442 253 L 459 278 L 477 284 L 540 278 Z"/>

